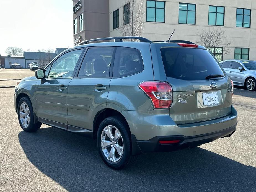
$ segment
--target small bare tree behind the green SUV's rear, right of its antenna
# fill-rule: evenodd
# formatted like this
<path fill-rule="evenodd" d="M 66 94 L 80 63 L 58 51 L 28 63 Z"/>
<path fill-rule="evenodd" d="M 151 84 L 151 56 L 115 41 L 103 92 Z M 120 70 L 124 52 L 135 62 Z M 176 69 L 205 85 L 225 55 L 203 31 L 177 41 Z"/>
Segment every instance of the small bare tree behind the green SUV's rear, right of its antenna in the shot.
<path fill-rule="evenodd" d="M 233 43 L 227 39 L 225 31 L 221 30 L 221 27 L 218 28 L 209 28 L 209 30 L 203 30 L 203 32 L 196 33 L 200 37 L 199 41 L 196 41 L 197 44 L 203 45 L 205 48 L 211 50 L 214 47 L 222 47 L 222 49 L 216 49 L 219 54 L 223 55 L 230 53 L 229 45 Z M 216 53 L 216 52 L 215 52 Z M 218 53 L 216 53 L 218 54 Z"/>

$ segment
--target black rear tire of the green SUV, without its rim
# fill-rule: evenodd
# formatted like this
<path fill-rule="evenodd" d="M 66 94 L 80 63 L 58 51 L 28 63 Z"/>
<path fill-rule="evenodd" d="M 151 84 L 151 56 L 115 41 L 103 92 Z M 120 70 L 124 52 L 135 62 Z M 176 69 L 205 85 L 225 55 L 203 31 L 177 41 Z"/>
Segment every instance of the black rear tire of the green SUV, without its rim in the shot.
<path fill-rule="evenodd" d="M 115 126 L 123 138 L 123 154 L 117 162 L 108 160 L 101 147 L 101 134 L 103 129 L 108 125 Z M 129 132 L 129 127 L 126 125 L 126 122 L 118 116 L 107 117 L 100 123 L 97 131 L 97 147 L 100 157 L 104 163 L 113 169 L 122 169 L 128 165 L 132 165 L 137 158 L 137 156 L 132 155 L 131 134 Z"/>

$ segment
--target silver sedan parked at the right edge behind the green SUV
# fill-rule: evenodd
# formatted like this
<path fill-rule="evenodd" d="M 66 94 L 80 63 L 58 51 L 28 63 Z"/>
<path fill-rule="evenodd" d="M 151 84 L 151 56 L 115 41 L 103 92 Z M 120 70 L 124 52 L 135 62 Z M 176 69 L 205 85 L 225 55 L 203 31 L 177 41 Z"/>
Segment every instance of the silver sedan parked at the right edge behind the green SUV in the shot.
<path fill-rule="evenodd" d="M 256 90 L 256 61 L 226 60 L 220 64 L 234 85 L 244 86 L 249 91 Z"/>

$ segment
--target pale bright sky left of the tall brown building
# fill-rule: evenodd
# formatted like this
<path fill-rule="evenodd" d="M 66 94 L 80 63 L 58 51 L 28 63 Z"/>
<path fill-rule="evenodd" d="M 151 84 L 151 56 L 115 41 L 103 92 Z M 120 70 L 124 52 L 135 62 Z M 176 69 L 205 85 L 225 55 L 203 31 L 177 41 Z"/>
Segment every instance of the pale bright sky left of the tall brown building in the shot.
<path fill-rule="evenodd" d="M 72 0 L 0 0 L 0 54 L 73 46 Z"/>

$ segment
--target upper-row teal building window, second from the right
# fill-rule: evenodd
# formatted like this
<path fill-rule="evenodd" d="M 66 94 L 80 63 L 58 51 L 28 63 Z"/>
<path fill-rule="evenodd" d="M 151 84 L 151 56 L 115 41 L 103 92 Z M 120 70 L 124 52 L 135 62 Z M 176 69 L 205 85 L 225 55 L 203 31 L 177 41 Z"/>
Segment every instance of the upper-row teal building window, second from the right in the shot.
<path fill-rule="evenodd" d="M 225 7 L 209 6 L 208 25 L 224 26 Z"/>

